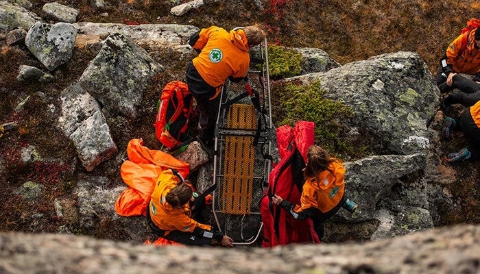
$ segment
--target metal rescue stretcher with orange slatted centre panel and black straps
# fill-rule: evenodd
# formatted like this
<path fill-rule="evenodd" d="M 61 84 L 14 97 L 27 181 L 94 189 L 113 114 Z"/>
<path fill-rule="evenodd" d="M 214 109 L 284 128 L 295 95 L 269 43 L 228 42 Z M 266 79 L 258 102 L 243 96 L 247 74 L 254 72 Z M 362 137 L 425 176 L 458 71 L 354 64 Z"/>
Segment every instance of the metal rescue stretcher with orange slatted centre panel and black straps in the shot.
<path fill-rule="evenodd" d="M 213 216 L 235 245 L 250 245 L 259 238 L 260 201 L 272 169 L 267 157 L 272 153 L 273 123 L 266 38 L 250 48 L 250 60 L 248 83 L 224 84 L 215 127 Z M 247 86 L 256 95 L 242 97 Z"/>

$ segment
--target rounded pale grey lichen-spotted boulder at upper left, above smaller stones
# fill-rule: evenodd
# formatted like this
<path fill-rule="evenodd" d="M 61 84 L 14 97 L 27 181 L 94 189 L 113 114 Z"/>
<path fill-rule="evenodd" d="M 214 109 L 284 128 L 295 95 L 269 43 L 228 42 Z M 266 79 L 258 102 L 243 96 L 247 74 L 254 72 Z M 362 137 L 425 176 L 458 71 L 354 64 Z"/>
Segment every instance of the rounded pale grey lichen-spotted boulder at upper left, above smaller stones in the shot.
<path fill-rule="evenodd" d="M 30 52 L 53 71 L 70 60 L 75 47 L 77 29 L 69 23 L 35 23 L 25 37 L 25 45 Z"/>

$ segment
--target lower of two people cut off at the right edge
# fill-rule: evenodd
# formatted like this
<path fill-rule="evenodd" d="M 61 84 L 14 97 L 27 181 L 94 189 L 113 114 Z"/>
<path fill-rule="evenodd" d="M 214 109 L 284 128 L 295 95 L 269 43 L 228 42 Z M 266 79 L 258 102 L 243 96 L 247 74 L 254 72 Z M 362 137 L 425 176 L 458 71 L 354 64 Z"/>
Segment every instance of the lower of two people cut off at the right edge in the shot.
<path fill-rule="evenodd" d="M 456 118 L 446 117 L 441 132 L 444 138 L 450 138 L 453 131 L 463 132 L 470 147 L 460 149 L 457 152 L 449 153 L 446 160 L 455 162 L 458 160 L 479 160 L 480 159 L 480 101 L 470 108 L 466 108 L 461 116 Z"/>

